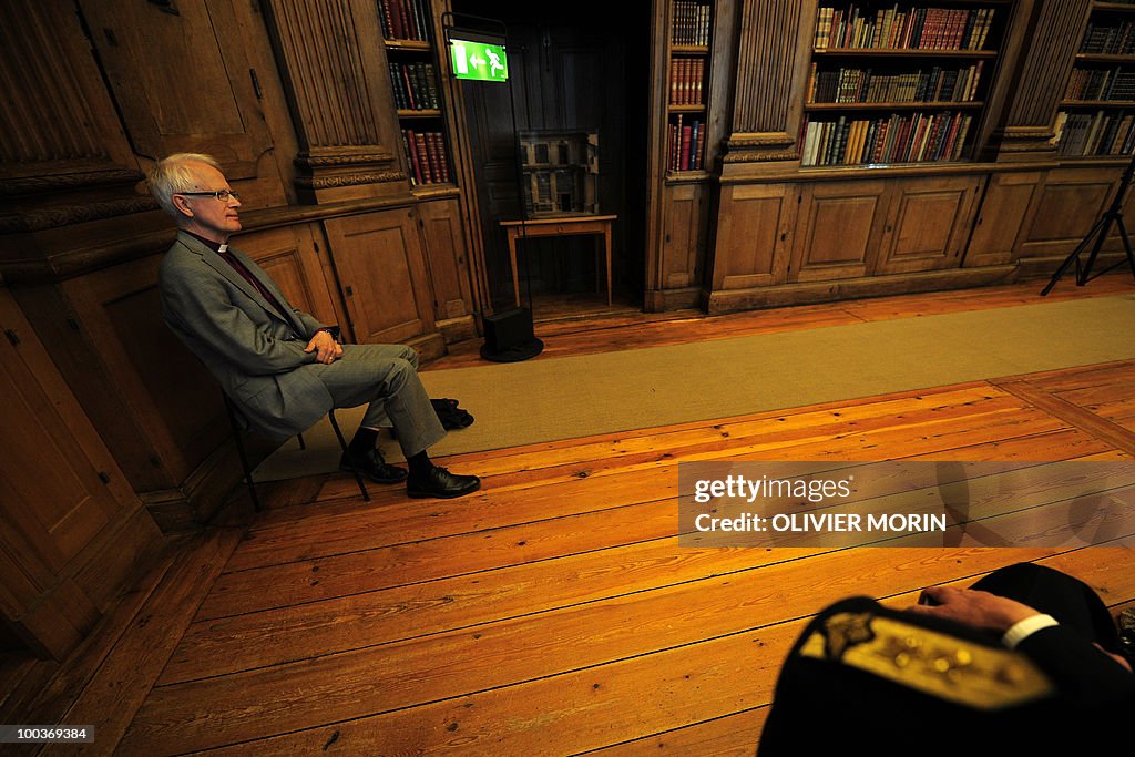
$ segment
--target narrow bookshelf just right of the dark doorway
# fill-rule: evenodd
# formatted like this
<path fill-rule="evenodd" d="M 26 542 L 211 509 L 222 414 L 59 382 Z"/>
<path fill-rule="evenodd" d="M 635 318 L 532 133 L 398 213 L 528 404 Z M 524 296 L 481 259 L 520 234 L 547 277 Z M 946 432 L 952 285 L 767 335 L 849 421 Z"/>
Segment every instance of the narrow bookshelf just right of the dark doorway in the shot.
<path fill-rule="evenodd" d="M 666 173 L 705 170 L 711 0 L 673 0 L 666 98 Z"/>

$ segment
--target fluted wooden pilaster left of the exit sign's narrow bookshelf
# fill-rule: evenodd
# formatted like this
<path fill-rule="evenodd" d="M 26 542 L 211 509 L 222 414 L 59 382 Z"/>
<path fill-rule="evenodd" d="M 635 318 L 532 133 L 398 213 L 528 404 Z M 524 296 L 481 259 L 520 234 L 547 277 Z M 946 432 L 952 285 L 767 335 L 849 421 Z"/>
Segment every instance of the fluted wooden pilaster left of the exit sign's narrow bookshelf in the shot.
<path fill-rule="evenodd" d="M 267 0 L 263 7 L 300 142 L 301 200 L 409 192 L 377 3 Z"/>

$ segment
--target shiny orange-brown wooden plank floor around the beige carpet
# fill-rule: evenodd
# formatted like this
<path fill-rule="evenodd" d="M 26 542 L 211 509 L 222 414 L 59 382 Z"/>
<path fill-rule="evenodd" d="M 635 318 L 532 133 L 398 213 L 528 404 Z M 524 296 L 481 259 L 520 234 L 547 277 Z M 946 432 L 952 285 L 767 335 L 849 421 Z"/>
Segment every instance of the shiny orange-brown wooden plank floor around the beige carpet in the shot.
<path fill-rule="evenodd" d="M 1033 303 L 1035 289 L 565 320 L 541 325 L 540 359 Z M 1135 286 L 1105 277 L 1052 298 L 1108 294 Z M 461 455 L 443 462 L 485 486 L 449 502 L 291 481 L 251 524 L 171 556 L 78 672 L 24 700 L 52 718 L 35 722 L 95 724 L 103 754 L 751 755 L 789 646 L 835 599 L 903 606 L 1028 560 L 1116 611 L 1135 602 L 1135 513 L 1103 547 L 680 547 L 676 465 L 724 459 L 1133 460 L 1135 361 Z"/>

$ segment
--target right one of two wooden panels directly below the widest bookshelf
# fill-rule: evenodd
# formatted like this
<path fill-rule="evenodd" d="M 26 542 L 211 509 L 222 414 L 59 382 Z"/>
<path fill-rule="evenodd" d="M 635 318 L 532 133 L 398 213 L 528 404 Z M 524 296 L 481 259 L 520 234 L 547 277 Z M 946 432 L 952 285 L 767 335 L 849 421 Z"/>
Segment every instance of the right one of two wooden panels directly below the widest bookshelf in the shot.
<path fill-rule="evenodd" d="M 969 238 L 983 178 L 948 176 L 893 183 L 891 211 L 874 274 L 957 268 Z"/>

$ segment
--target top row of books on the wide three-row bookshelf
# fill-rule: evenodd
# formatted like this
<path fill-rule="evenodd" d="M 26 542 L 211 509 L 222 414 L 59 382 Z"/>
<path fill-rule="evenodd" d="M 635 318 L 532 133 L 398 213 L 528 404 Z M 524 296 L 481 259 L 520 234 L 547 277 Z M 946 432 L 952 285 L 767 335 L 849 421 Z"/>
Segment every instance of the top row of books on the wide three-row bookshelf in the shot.
<path fill-rule="evenodd" d="M 821 7 L 815 49 L 981 50 L 994 8 Z"/>

